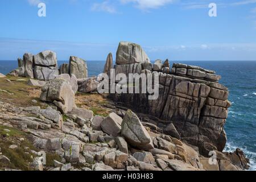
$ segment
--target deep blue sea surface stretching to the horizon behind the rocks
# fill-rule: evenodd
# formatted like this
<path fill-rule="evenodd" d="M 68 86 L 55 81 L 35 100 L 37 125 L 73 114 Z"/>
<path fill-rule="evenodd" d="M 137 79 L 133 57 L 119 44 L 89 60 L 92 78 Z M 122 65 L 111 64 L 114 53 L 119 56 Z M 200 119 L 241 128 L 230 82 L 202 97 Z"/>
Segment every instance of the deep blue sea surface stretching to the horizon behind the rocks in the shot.
<path fill-rule="evenodd" d="M 256 61 L 176 62 L 212 69 L 222 76 L 220 82 L 229 88 L 232 102 L 225 125 L 228 137 L 225 151 L 242 148 L 250 159 L 250 170 L 256 170 Z M 63 63 L 68 61 L 58 61 L 59 65 Z M 104 64 L 105 61 L 87 61 L 89 76 L 100 74 Z M 17 67 L 17 61 L 0 61 L 0 73 L 7 74 Z"/>

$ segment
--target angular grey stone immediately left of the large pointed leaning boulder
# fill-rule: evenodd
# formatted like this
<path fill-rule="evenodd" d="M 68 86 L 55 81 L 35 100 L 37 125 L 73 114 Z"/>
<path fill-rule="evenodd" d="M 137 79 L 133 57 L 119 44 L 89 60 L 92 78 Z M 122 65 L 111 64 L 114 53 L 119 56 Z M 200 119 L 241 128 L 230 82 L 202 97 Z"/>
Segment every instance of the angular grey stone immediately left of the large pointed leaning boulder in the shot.
<path fill-rule="evenodd" d="M 110 113 L 101 122 L 101 129 L 113 137 L 117 137 L 121 133 L 122 118 L 115 113 Z"/>

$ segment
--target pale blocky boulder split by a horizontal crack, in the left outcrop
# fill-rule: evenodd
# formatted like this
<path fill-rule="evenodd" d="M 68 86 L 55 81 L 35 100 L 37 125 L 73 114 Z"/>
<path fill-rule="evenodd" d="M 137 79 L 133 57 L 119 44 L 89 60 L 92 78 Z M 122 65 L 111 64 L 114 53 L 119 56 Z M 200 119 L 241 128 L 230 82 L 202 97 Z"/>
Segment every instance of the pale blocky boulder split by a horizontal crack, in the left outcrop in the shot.
<path fill-rule="evenodd" d="M 34 77 L 38 80 L 49 81 L 59 75 L 57 56 L 55 52 L 43 51 L 34 56 Z"/>

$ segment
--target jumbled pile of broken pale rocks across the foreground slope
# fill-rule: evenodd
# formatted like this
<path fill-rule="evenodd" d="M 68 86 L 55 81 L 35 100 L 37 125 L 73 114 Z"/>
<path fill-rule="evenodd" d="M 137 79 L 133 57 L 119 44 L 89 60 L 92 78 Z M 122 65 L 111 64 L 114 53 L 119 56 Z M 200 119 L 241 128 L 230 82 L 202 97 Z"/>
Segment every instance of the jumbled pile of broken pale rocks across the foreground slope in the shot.
<path fill-rule="evenodd" d="M 35 117 L 27 117 L 28 113 Z M 65 114 L 63 122 L 62 115 L 52 107 L 17 108 L 1 102 L 0 119 L 5 120 L 5 125 L 26 131 L 39 150 L 60 156 L 61 160 L 54 160 L 53 166 L 47 168 L 34 158 L 31 165 L 37 170 L 224 171 L 248 167 L 240 150 L 216 151 L 217 163 L 210 165 L 210 159 L 201 156 L 198 148 L 143 126 L 131 110 L 122 118 L 116 113 L 93 116 L 90 110 L 75 108 Z M 1 154 L 0 160 L 11 162 Z"/>

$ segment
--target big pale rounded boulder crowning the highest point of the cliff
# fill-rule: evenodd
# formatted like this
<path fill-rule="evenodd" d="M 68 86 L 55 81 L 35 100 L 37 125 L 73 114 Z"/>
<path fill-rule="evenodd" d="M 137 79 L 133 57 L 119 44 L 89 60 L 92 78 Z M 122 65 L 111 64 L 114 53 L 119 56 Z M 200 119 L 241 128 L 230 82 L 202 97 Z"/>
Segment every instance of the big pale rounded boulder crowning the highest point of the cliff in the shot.
<path fill-rule="evenodd" d="M 150 62 L 141 46 L 129 42 L 120 42 L 117 49 L 116 64 L 133 64 Z"/>

